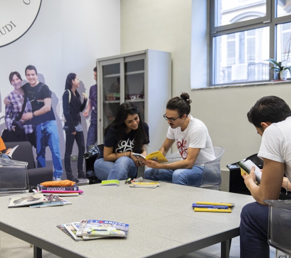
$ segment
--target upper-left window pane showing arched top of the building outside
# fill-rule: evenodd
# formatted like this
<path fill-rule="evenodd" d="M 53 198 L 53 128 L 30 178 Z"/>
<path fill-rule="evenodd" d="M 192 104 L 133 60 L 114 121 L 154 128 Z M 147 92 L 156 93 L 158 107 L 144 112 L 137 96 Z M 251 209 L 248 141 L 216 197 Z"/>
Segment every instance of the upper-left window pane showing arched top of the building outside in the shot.
<path fill-rule="evenodd" d="M 216 26 L 266 16 L 266 0 L 217 0 Z"/>

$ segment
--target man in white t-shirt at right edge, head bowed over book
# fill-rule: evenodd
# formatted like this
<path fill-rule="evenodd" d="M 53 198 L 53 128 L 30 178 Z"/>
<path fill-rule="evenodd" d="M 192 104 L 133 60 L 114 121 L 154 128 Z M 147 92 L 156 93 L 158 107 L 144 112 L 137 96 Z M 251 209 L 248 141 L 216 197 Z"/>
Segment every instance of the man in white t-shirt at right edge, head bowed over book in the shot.
<path fill-rule="evenodd" d="M 291 190 L 291 110 L 279 97 L 266 96 L 247 116 L 262 136 L 258 157 L 264 166 L 260 186 L 255 183 L 254 167 L 249 175 L 243 175 L 256 202 L 247 204 L 241 212 L 240 257 L 269 257 L 269 207 L 264 200 L 278 200 L 281 187 Z"/>

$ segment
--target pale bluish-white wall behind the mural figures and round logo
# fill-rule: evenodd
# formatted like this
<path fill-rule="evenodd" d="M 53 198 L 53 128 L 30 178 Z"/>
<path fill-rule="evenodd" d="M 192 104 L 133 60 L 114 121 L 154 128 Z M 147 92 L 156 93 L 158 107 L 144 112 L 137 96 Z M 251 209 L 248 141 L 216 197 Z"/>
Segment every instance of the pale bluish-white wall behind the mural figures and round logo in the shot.
<path fill-rule="evenodd" d="M 0 4 L 1 8 L 1 4 Z M 93 68 L 96 59 L 120 54 L 120 2 L 119 0 L 44 0 L 32 27 L 20 39 L 0 48 L 0 112 L 5 113 L 3 98 L 13 90 L 8 76 L 18 71 L 25 79 L 25 67 L 34 65 L 43 74 L 45 83 L 53 92 L 52 106 L 56 105 L 65 89 L 68 73 L 76 73 L 86 92 L 95 81 Z M 57 119 L 61 156 L 64 157 L 65 138 Z M 87 136 L 89 119 L 82 126 Z M 0 131 L 5 129 L 4 119 Z M 73 155 L 78 153 L 76 146 Z M 51 159 L 47 149 L 47 160 Z"/>

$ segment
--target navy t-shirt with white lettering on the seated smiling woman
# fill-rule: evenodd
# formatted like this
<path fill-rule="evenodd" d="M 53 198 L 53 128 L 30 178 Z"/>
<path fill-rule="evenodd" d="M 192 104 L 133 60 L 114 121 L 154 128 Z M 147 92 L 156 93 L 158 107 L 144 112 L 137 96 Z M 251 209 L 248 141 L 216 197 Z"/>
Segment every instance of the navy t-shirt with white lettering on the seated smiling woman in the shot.
<path fill-rule="evenodd" d="M 143 123 L 143 125 L 145 133 L 149 138 L 149 126 L 146 123 Z M 113 153 L 133 151 L 135 132 L 135 130 L 131 130 L 124 140 L 118 142 L 117 129 L 110 127 L 105 136 L 104 147 L 113 147 Z M 143 144 L 149 144 L 149 141 L 143 142 Z M 135 152 L 140 153 L 140 151 L 139 149 Z M 98 158 L 104 158 L 103 152 L 100 153 Z"/>

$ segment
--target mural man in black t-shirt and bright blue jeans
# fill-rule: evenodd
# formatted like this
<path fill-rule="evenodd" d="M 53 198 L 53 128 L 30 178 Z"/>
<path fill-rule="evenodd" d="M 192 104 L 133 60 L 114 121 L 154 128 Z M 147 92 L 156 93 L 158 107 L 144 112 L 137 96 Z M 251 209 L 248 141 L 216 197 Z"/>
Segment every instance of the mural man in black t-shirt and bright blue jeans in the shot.
<path fill-rule="evenodd" d="M 37 167 L 45 167 L 45 147 L 49 146 L 55 169 L 53 180 L 61 180 L 63 168 L 58 129 L 52 109 L 52 92 L 47 85 L 39 82 L 34 66 L 28 65 L 25 68 L 25 76 L 28 83 L 24 84 L 22 89 L 27 93 L 32 112 L 25 113 L 22 119 L 32 119 L 35 125 Z"/>

